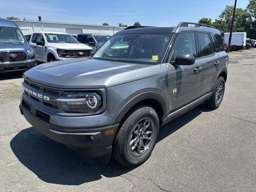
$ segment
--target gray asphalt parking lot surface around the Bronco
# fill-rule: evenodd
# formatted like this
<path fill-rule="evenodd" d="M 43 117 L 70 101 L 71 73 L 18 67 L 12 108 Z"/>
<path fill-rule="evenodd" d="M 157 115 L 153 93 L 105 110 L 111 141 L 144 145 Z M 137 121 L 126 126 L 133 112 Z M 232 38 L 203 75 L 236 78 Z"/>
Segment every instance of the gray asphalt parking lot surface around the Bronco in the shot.
<path fill-rule="evenodd" d="M 224 100 L 160 128 L 148 161 L 84 160 L 20 114 L 22 74 L 0 78 L 0 191 L 256 191 L 256 49 L 230 54 Z"/>

